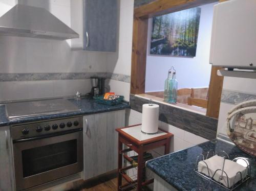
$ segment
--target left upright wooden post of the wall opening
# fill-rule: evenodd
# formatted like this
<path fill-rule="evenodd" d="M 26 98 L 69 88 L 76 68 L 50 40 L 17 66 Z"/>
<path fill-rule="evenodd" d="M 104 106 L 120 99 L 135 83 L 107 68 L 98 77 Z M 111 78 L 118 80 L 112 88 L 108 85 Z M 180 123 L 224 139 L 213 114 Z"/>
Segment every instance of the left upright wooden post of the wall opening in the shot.
<path fill-rule="evenodd" d="M 148 19 L 133 20 L 131 93 L 145 92 Z"/>

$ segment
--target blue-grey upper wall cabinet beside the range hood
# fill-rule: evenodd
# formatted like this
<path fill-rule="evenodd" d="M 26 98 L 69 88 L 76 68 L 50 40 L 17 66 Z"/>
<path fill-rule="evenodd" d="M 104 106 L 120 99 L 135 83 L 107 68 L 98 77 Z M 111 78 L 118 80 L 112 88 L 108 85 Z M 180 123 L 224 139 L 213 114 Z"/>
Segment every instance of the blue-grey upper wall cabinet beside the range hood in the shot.
<path fill-rule="evenodd" d="M 115 52 L 117 23 L 118 0 L 71 1 L 71 28 L 80 36 L 72 49 Z"/>

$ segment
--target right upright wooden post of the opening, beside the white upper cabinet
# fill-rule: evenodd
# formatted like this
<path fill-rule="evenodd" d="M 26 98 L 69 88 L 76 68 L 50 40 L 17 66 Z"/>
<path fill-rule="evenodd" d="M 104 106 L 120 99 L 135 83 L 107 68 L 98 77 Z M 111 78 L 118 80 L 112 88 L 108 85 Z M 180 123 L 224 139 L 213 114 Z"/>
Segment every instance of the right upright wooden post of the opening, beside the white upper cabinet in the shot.
<path fill-rule="evenodd" d="M 223 86 L 223 77 L 217 75 L 217 70 L 222 67 L 211 67 L 210 86 L 208 91 L 208 104 L 206 115 L 214 118 L 219 117 L 221 104 L 221 91 Z"/>

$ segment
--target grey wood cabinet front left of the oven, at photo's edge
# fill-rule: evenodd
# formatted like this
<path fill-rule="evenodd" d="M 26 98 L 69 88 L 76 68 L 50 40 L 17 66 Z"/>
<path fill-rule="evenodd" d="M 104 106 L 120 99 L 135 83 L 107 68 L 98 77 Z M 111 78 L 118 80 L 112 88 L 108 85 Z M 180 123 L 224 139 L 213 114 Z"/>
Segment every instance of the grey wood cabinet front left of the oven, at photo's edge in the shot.
<path fill-rule="evenodd" d="M 0 127 L 0 190 L 15 190 L 9 127 Z"/>

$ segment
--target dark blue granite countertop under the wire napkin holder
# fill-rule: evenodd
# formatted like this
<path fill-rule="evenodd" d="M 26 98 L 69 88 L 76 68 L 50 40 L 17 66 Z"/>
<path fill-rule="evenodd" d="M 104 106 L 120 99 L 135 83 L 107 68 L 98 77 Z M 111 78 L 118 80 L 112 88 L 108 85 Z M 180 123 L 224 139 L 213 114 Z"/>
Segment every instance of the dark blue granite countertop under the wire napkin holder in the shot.
<path fill-rule="evenodd" d="M 224 150 L 230 159 L 248 158 L 251 165 L 251 178 L 236 190 L 256 190 L 256 158 L 218 139 L 152 159 L 146 163 L 146 166 L 178 190 L 227 190 L 194 172 L 197 156 L 199 154 L 206 156 L 209 150 L 215 152 Z"/>

